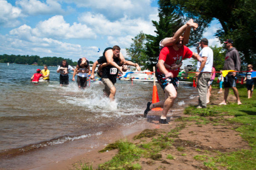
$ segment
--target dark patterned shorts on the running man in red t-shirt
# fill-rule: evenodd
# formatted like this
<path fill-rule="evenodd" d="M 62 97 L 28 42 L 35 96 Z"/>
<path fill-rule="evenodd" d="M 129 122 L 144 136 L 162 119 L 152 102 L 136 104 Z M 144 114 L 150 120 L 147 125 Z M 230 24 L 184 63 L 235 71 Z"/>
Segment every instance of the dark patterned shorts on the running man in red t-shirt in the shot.
<path fill-rule="evenodd" d="M 177 77 L 175 77 L 175 78 L 166 78 L 163 73 L 156 72 L 156 78 L 157 78 L 157 81 L 158 81 L 159 85 L 162 87 L 163 90 L 169 84 L 173 84 L 173 86 L 175 87 L 176 90 L 179 86 L 179 79 Z"/>

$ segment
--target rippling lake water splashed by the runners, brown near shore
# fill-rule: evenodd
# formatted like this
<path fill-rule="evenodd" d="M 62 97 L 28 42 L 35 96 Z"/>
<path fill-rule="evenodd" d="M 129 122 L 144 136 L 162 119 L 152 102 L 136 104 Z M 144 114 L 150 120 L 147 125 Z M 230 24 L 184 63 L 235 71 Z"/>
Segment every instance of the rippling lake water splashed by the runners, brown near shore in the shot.
<path fill-rule="evenodd" d="M 103 84 L 93 81 L 80 90 L 76 82 L 59 86 L 57 67 L 49 66 L 50 82 L 30 83 L 36 69 L 0 63 L 0 156 L 102 135 L 110 128 L 136 124 L 152 98 L 153 83 L 117 81 L 116 101 L 103 97 Z M 88 84 L 87 84 L 88 85 Z M 163 92 L 157 85 L 160 99 Z M 188 104 L 197 92 L 181 85 L 173 110 Z M 170 115 L 170 114 L 169 114 Z M 144 119 L 146 121 L 146 119 Z"/>

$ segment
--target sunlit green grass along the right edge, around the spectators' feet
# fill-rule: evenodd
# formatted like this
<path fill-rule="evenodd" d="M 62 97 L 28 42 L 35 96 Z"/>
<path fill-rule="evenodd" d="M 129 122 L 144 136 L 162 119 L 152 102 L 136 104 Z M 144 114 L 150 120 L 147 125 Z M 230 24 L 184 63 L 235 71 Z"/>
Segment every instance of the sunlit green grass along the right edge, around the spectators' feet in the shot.
<path fill-rule="evenodd" d="M 204 120 L 203 122 L 223 126 L 236 124 L 235 130 L 240 132 L 241 137 L 248 141 L 251 147 L 250 150 L 241 149 L 232 153 L 220 153 L 216 157 L 208 157 L 207 161 L 204 161 L 204 165 L 213 170 L 218 170 L 218 167 L 226 167 L 227 170 L 255 170 L 256 167 L 256 97 L 247 99 L 247 89 L 244 85 L 238 84 L 237 88 L 241 105 L 230 103 L 225 106 L 207 106 L 207 109 L 195 109 L 192 106 L 185 109 L 186 114 L 193 115 L 191 118 L 186 118 L 186 121 L 202 122 L 204 120 L 202 117 L 221 116 L 221 118 L 211 118 L 213 121 Z M 231 89 L 229 95 L 234 95 Z M 224 119 L 223 115 L 231 115 L 234 118 Z M 206 159 L 204 156 L 195 156 L 194 158 Z"/>

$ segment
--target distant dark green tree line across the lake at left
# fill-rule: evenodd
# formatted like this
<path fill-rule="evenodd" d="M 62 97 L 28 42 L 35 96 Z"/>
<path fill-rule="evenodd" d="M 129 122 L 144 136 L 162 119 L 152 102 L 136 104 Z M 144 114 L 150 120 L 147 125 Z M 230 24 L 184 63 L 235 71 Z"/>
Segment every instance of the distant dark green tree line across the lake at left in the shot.
<path fill-rule="evenodd" d="M 60 63 L 66 60 L 71 66 L 76 66 L 77 62 L 73 62 L 69 58 L 62 57 L 43 57 L 40 58 L 38 55 L 0 55 L 0 63 L 17 63 L 17 64 L 34 64 L 37 63 L 40 66 L 58 66 Z"/>

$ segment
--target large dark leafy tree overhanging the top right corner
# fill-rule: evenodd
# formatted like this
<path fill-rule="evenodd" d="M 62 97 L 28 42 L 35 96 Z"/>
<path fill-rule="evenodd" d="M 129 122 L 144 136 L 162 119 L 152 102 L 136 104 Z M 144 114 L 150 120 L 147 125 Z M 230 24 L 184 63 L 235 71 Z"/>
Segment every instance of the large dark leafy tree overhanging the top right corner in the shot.
<path fill-rule="evenodd" d="M 201 22 L 217 18 L 222 29 L 216 36 L 223 42 L 228 38 L 241 53 L 244 63 L 256 64 L 256 2 L 255 0 L 159 0 L 168 3 L 184 16 L 196 17 Z M 199 22 L 200 23 L 200 22 Z"/>

